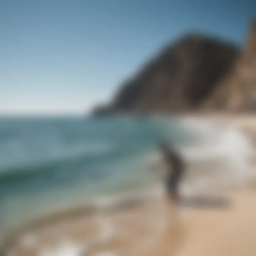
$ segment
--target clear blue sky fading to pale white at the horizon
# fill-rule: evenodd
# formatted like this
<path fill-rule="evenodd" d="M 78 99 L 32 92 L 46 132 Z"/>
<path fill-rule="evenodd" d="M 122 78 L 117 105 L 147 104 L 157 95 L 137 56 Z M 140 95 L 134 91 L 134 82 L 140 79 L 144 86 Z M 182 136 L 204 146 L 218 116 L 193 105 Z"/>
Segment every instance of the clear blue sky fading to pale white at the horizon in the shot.
<path fill-rule="evenodd" d="M 162 46 L 242 45 L 255 0 L 0 0 L 0 114 L 81 114 Z"/>

